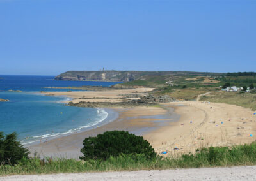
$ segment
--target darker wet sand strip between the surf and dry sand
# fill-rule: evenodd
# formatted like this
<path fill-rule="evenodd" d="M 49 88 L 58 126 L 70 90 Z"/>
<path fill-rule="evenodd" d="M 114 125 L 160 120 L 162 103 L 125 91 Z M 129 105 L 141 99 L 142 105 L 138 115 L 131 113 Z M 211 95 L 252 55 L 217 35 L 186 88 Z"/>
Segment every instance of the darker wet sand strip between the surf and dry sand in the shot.
<path fill-rule="evenodd" d="M 145 116 L 148 116 L 145 110 L 148 109 L 152 113 L 149 113 L 149 117 L 145 118 Z M 97 136 L 97 134 L 113 130 L 124 130 L 129 131 L 129 133 L 143 135 L 162 126 L 157 121 L 160 119 L 166 122 L 168 116 L 166 110 L 162 108 L 111 108 L 111 110 L 119 113 L 118 118 L 115 120 L 106 120 L 104 122 L 105 124 L 97 127 L 94 126 L 90 130 L 83 130 L 79 133 L 70 133 L 69 135 L 53 138 L 46 143 L 28 145 L 31 155 L 33 155 L 33 152 L 37 152 L 40 157 L 52 156 L 78 159 L 81 154 L 80 149 L 83 147 L 83 140 L 88 136 Z M 159 119 L 157 119 L 158 117 Z"/>

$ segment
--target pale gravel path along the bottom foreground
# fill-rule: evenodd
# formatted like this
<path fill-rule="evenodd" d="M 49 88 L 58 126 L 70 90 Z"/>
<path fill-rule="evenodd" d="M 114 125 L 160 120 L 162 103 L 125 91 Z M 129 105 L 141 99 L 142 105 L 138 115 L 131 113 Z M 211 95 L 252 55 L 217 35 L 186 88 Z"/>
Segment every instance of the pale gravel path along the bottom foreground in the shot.
<path fill-rule="evenodd" d="M 0 180 L 256 180 L 256 166 L 52 175 L 15 175 L 0 177 Z"/>

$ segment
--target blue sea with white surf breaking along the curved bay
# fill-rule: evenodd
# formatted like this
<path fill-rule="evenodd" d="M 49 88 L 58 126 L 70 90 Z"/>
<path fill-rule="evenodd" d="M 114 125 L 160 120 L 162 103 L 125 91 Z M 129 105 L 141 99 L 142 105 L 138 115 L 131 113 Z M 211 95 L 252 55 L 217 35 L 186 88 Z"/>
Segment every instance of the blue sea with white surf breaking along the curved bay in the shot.
<path fill-rule="evenodd" d="M 58 136 L 99 126 L 116 113 L 102 108 L 66 106 L 63 101 L 71 98 L 45 96 L 40 91 L 70 91 L 45 87 L 111 86 L 121 82 L 65 81 L 54 76 L 0 75 L 0 132 L 16 132 L 18 140 L 26 145 L 47 141 Z M 7 92 L 20 90 L 22 92 Z M 82 91 L 82 90 L 72 90 Z M 84 90 L 83 90 L 84 91 Z"/>

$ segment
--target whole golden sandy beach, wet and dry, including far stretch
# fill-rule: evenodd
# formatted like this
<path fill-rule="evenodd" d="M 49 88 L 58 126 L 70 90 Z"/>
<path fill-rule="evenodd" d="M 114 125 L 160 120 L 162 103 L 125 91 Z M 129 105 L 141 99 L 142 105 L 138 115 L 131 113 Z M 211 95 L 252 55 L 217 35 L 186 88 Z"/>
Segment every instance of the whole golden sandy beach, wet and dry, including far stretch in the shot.
<path fill-rule="evenodd" d="M 72 101 L 113 101 L 123 94 L 147 94 L 149 89 L 127 89 L 95 92 L 47 92 L 56 96 L 70 96 Z M 95 98 L 97 99 L 86 99 Z M 110 130 L 125 130 L 142 135 L 156 152 L 168 152 L 167 156 L 195 152 L 196 148 L 231 146 L 255 141 L 256 115 L 249 109 L 223 103 L 183 101 L 161 103 L 159 107 L 139 106 L 113 108 L 119 117 L 109 124 L 93 127 L 89 131 L 73 133 L 29 146 L 40 156 L 73 157 L 80 155 L 84 138 Z"/>

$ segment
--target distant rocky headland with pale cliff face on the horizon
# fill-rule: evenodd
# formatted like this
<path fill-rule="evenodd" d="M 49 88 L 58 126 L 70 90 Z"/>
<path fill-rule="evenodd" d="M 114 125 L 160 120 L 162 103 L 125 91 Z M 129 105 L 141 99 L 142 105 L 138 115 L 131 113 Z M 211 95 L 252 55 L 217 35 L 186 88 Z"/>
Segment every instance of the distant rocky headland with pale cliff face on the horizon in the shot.
<path fill-rule="evenodd" d="M 129 82 L 148 80 L 151 76 L 219 76 L 221 73 L 199 73 L 186 71 L 67 71 L 56 76 L 55 80 L 98 80 Z"/>

